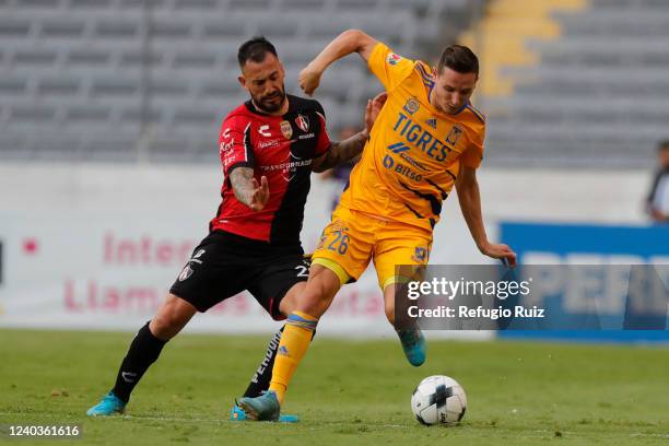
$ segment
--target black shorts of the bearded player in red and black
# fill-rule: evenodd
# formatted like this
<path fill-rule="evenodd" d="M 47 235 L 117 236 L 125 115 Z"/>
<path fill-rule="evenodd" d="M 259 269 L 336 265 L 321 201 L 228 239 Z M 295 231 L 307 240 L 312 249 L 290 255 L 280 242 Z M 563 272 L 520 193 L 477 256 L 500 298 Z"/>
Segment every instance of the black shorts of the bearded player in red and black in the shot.
<path fill-rule="evenodd" d="M 307 280 L 309 263 L 301 246 L 277 247 L 222 231 L 209 234 L 169 289 L 207 312 L 245 290 L 275 319 L 287 291 Z"/>

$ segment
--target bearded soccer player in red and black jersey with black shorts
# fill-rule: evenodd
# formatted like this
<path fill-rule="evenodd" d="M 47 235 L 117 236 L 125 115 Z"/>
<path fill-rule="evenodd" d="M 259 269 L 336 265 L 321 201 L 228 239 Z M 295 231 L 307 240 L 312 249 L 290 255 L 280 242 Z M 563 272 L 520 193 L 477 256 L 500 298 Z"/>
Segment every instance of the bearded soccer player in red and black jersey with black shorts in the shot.
<path fill-rule="evenodd" d="M 116 385 L 89 415 L 124 412 L 144 372 L 197 312 L 247 290 L 272 318 L 291 314 L 308 278 L 300 232 L 310 174 L 349 161 L 367 140 L 364 130 L 330 142 L 322 107 L 285 94 L 283 67 L 265 38 L 244 43 L 237 58 L 239 83 L 250 99 L 221 127 L 225 179 L 210 233 L 192 251 L 157 314 L 132 340 Z M 383 98 L 367 103 L 367 128 L 382 106 Z M 245 396 L 256 397 L 269 387 L 280 337 L 274 334 Z M 231 416 L 245 415 L 235 406 Z M 296 420 L 287 415 L 283 421 Z"/>

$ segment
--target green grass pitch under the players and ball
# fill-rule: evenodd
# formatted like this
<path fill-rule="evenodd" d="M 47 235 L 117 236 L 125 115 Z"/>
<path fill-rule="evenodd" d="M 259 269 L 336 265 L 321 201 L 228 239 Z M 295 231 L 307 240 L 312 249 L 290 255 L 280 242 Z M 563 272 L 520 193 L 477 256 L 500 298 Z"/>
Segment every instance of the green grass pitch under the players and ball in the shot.
<path fill-rule="evenodd" d="M 0 423 L 82 426 L 81 438 L 59 445 L 669 444 L 667 348 L 431 341 L 427 362 L 413 368 L 390 337 L 316 338 L 285 404 L 302 422 L 282 425 L 227 421 L 269 336 L 183 334 L 146 373 L 126 415 L 87 419 L 131 338 L 1 330 Z M 461 425 L 413 419 L 411 392 L 434 374 L 465 387 Z"/>

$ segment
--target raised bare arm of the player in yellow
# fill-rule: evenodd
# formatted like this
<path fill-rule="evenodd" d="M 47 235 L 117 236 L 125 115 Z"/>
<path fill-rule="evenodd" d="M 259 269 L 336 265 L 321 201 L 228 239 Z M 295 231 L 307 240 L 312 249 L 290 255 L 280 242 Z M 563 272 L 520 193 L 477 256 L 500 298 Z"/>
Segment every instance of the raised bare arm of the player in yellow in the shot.
<path fill-rule="evenodd" d="M 376 44 L 375 38 L 360 30 L 344 31 L 300 72 L 300 87 L 308 95 L 314 94 L 320 83 L 320 77 L 330 63 L 352 52 L 357 52 L 366 62 Z"/>

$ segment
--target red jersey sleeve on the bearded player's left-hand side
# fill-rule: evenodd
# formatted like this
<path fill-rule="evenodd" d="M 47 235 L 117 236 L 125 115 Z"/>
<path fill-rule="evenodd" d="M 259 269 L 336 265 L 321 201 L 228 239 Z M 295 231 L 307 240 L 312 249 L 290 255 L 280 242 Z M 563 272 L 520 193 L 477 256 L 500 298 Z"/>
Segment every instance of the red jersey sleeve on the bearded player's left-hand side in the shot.
<path fill-rule="evenodd" d="M 236 167 L 254 167 L 250 121 L 240 116 L 226 118 L 221 125 L 219 151 L 226 177 Z"/>

